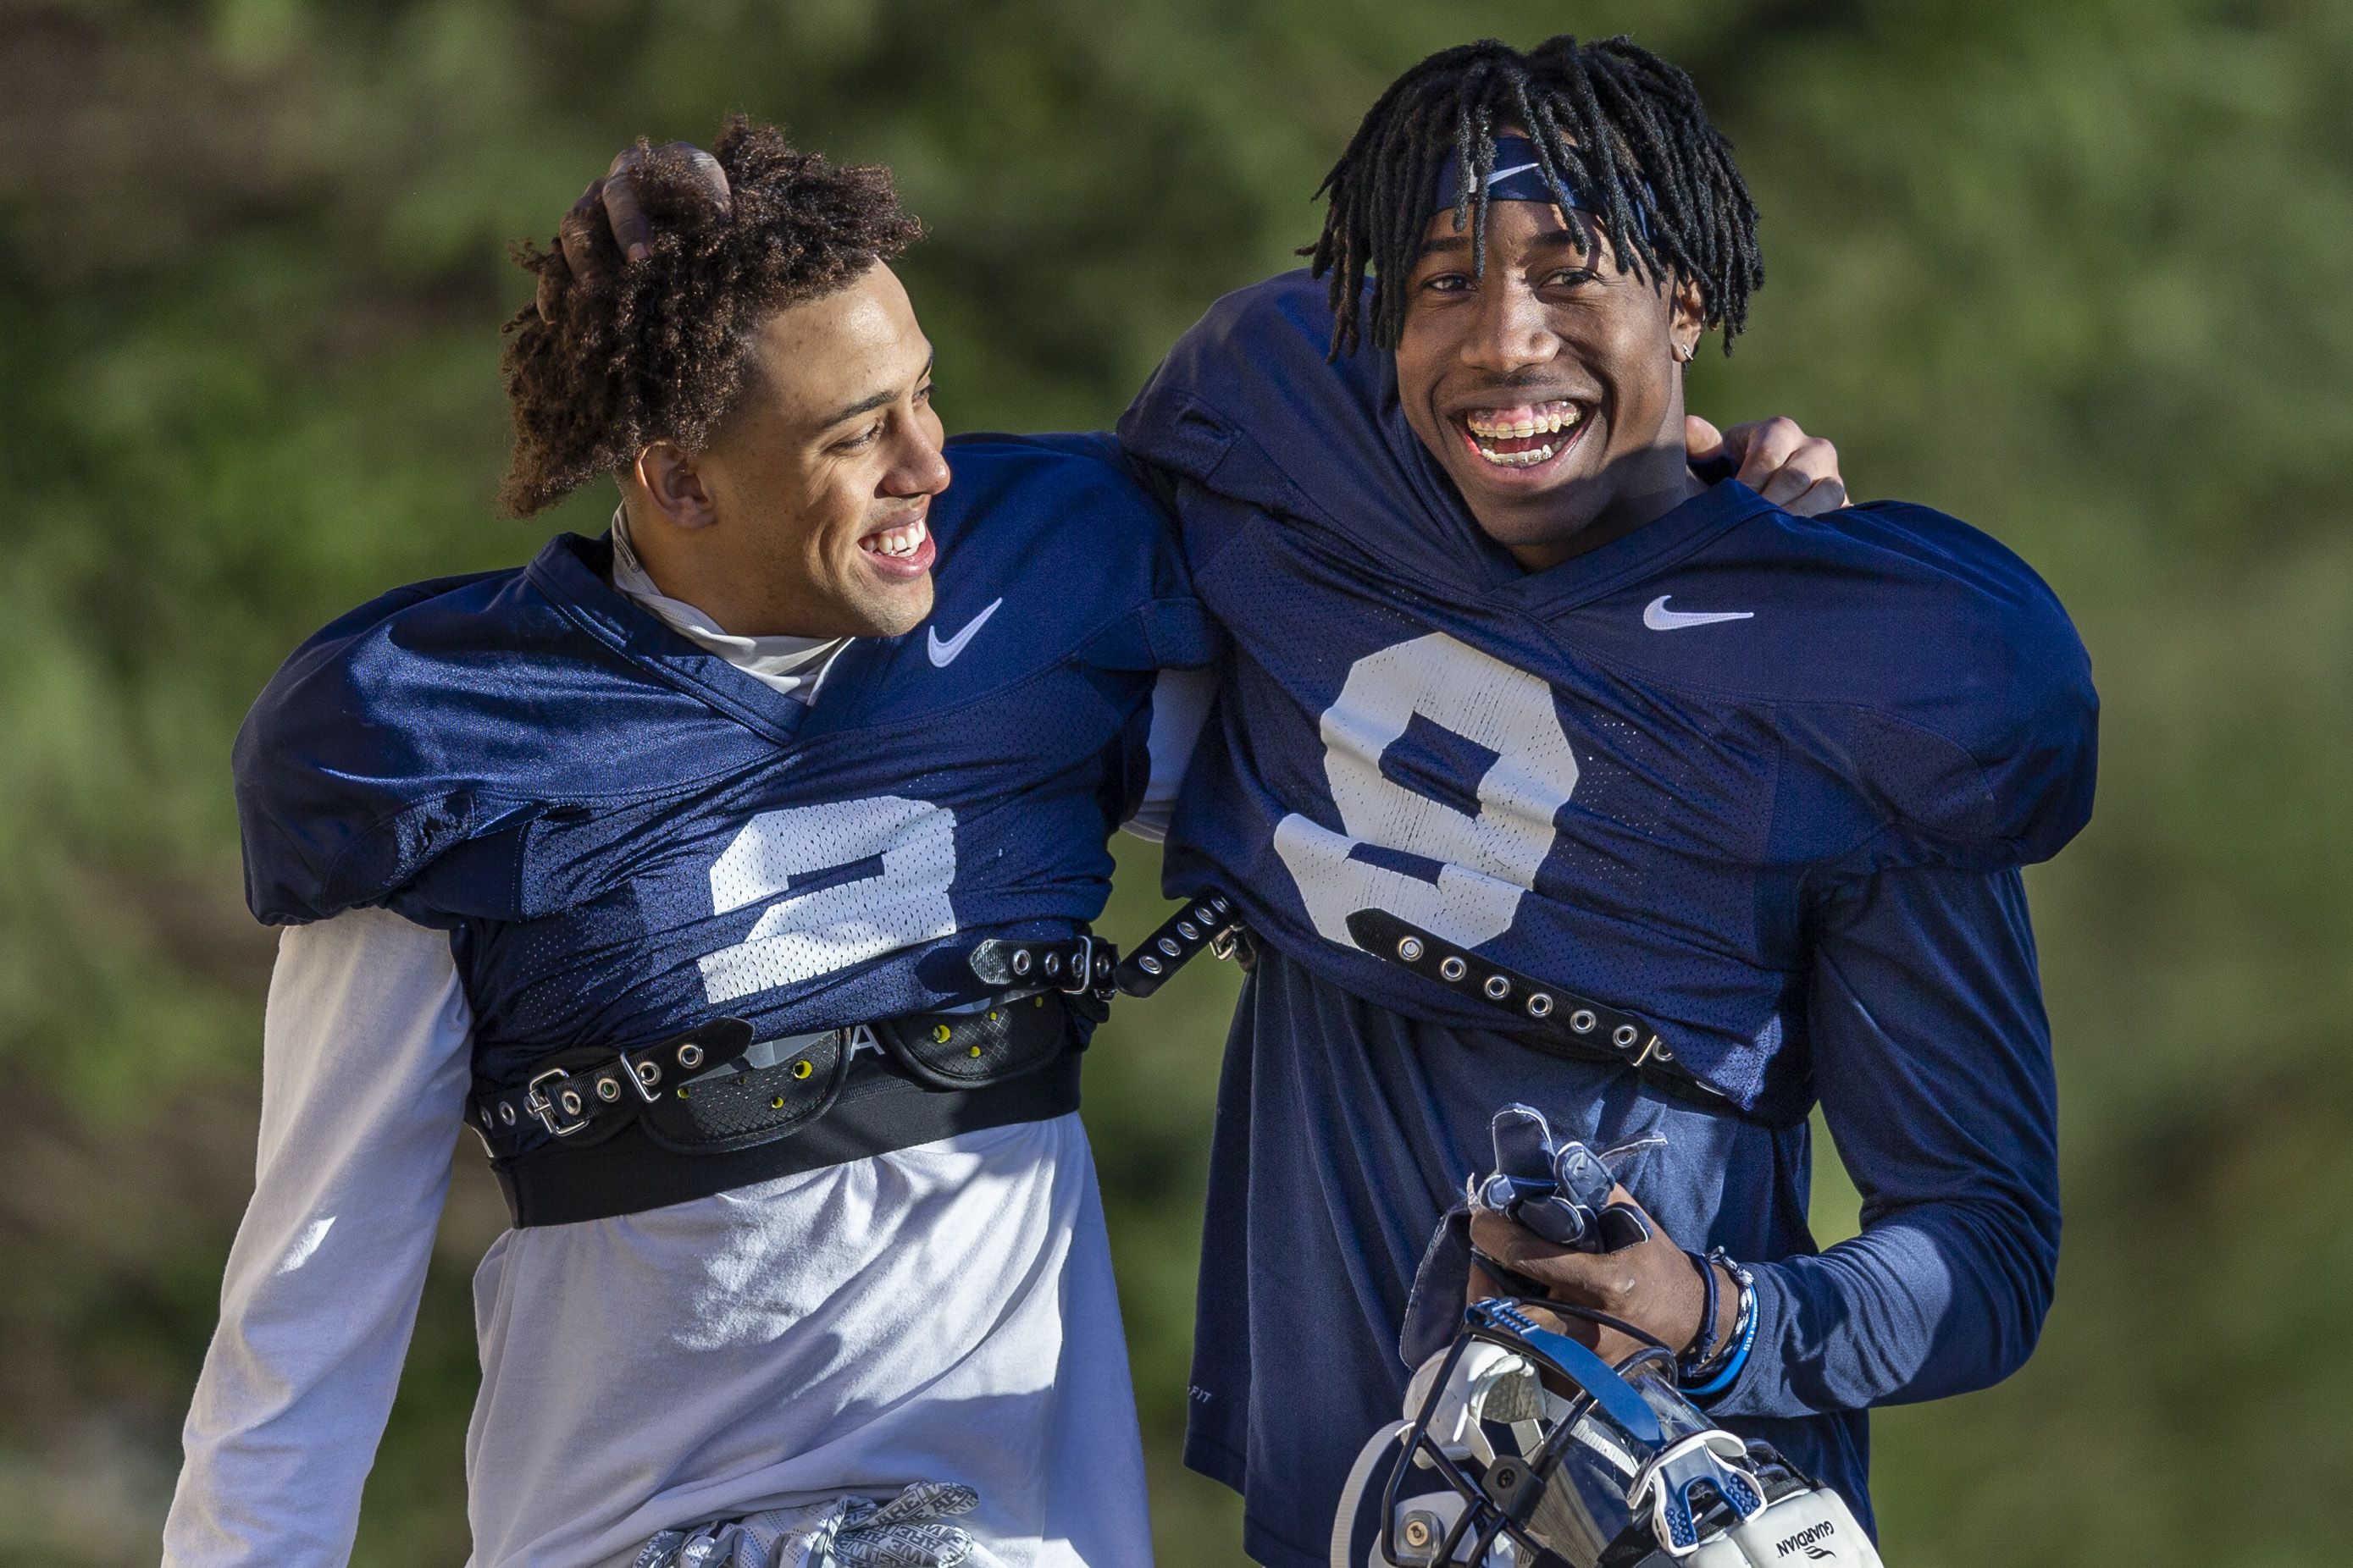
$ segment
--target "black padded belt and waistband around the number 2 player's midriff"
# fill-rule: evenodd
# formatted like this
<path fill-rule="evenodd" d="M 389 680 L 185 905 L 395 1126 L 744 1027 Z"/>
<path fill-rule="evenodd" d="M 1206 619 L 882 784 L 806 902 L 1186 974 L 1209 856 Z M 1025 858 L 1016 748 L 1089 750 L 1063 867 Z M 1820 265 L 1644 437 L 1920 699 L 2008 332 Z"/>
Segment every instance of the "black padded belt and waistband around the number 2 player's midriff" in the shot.
<path fill-rule="evenodd" d="M 522 1084 L 478 1088 L 466 1124 L 515 1227 L 640 1213 L 1078 1110 L 1082 1034 L 1054 990 L 751 1034 L 713 1018 L 642 1048 L 560 1051 Z"/>

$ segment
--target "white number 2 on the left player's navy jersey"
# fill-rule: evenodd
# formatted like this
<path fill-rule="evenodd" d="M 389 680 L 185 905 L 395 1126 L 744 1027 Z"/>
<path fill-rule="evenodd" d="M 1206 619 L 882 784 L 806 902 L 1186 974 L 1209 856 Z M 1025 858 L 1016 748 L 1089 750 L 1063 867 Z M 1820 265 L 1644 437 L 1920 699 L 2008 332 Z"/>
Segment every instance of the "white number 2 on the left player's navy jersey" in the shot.
<path fill-rule="evenodd" d="M 741 943 L 701 959 L 704 994 L 734 1001 L 955 936 L 953 884 L 946 806 L 878 795 L 762 811 L 711 863 L 711 912 L 784 898 Z"/>

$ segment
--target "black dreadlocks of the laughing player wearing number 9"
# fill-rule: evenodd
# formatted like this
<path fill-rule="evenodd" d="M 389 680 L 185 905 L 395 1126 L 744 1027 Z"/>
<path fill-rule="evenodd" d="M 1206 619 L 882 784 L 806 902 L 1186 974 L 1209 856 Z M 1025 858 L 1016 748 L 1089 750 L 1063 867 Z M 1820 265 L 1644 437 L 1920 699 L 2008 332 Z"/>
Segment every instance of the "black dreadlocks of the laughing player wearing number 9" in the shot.
<path fill-rule="evenodd" d="M 1562 33 L 1532 54 L 1492 38 L 1442 49 L 1400 75 L 1355 127 L 1315 193 L 1332 197 L 1322 235 L 1299 252 L 1315 277 L 1332 275 L 1332 357 L 1355 353 L 1367 313 L 1379 348 L 1405 334 L 1402 284 L 1447 155 L 1468 172 L 1454 181 L 1454 223 L 1468 223 L 1473 268 L 1485 275 L 1485 176 L 1499 129 L 1513 125 L 1537 146 L 1553 197 L 1593 212 L 1619 266 L 1645 282 L 1699 284 L 1706 324 L 1725 329 L 1732 353 L 1748 296 L 1765 282 L 1758 209 L 1732 143 L 1675 66 L 1626 38 L 1579 45 Z"/>

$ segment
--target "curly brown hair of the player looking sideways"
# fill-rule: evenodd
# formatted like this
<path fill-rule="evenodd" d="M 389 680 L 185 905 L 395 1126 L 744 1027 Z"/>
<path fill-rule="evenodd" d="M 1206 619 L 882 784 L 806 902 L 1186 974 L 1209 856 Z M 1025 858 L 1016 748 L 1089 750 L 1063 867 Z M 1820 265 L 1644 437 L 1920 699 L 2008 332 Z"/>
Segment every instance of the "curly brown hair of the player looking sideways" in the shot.
<path fill-rule="evenodd" d="M 711 146 L 732 212 L 706 195 L 685 153 L 642 139 L 638 148 L 649 256 L 614 256 L 584 277 L 560 242 L 515 247 L 515 263 L 553 275 L 553 287 L 541 289 L 546 317 L 529 303 L 506 322 L 515 454 L 499 510 L 511 517 L 626 470 L 652 442 L 701 451 L 755 374 L 760 320 L 847 287 L 922 233 L 899 209 L 889 169 L 835 167 L 744 115 Z"/>

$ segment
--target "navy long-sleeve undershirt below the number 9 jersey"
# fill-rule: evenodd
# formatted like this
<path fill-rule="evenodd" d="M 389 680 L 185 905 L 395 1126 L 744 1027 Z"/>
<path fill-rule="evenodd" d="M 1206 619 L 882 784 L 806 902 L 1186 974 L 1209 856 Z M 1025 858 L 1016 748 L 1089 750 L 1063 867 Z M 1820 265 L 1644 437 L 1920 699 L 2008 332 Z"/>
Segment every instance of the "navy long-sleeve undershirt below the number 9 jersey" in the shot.
<path fill-rule="evenodd" d="M 1487 1032 L 1374 1009 L 1280 952 L 1245 990 L 1219 1093 L 1186 1458 L 1245 1493 L 1249 1552 L 1320 1563 L 1358 1446 L 1395 1420 L 1414 1265 L 1511 1100 L 1626 1171 L 1680 1244 L 1758 1279 L 1718 1415 L 1868 1521 L 1873 1403 L 1998 1382 L 2033 1349 L 2059 1255 L 2057 1103 L 2014 870 L 1906 867 L 1809 910 L 1805 1039 L 1864 1197 L 1814 1255 L 1809 1128 L 1767 1128 Z"/>

